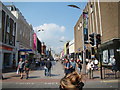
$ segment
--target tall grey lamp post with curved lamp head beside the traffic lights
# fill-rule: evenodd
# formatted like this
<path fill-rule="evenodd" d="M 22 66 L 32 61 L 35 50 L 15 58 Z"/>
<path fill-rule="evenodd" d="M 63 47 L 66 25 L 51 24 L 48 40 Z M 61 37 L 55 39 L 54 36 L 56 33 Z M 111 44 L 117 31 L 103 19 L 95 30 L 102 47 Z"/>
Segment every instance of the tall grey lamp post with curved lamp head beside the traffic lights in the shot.
<path fill-rule="evenodd" d="M 73 7 L 73 8 L 77 8 L 77 9 L 80 9 L 80 7 L 76 6 L 76 5 L 68 5 L 69 7 Z M 81 10 L 81 9 L 80 9 Z M 82 10 L 83 13 L 85 13 L 83 10 Z M 82 68 L 82 73 L 83 74 L 86 74 L 86 50 L 85 50 L 85 40 L 84 40 L 84 27 L 83 27 L 83 17 L 82 17 L 82 22 L 80 23 L 80 27 L 82 27 L 82 42 L 83 42 L 83 68 Z"/>

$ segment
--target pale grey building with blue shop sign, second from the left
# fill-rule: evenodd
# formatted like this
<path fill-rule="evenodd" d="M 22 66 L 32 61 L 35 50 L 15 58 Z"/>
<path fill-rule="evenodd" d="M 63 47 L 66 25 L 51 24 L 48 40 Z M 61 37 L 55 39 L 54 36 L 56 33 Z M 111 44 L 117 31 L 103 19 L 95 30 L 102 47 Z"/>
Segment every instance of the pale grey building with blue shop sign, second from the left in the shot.
<path fill-rule="evenodd" d="M 6 6 L 11 13 L 16 17 L 17 19 L 17 31 L 16 31 L 16 46 L 18 47 L 18 58 L 17 62 L 19 61 L 19 58 L 30 59 L 31 53 L 34 54 L 33 51 L 33 28 L 32 25 L 29 24 L 22 13 L 19 11 L 18 8 L 16 8 L 14 5 L 7 5 Z"/>

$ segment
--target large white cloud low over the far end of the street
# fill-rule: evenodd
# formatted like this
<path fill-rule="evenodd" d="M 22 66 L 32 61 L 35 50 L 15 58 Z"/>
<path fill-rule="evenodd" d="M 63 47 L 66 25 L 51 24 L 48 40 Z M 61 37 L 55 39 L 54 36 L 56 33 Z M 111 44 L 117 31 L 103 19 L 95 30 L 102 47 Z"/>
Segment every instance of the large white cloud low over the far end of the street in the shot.
<path fill-rule="evenodd" d="M 64 40 L 64 26 L 60 26 L 54 23 L 43 24 L 37 27 L 34 27 L 34 30 L 38 36 L 38 38 L 47 44 L 47 46 L 55 49 L 55 52 L 59 52 L 58 47 L 62 46 L 63 43 L 60 40 Z M 38 30 L 44 30 L 38 32 Z"/>

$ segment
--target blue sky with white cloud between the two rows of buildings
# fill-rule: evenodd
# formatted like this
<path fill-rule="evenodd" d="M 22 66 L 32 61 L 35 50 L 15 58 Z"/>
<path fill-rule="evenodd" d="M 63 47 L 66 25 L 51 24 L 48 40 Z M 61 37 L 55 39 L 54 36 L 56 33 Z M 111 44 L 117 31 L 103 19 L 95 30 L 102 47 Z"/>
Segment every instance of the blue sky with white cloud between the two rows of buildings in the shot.
<path fill-rule="evenodd" d="M 87 2 L 7 2 L 14 4 L 47 48 L 56 53 L 63 49 L 66 41 L 74 39 L 74 26 Z M 81 9 L 68 7 L 77 5 Z M 43 29 L 44 31 L 38 32 Z M 62 40 L 63 42 L 60 42 Z"/>

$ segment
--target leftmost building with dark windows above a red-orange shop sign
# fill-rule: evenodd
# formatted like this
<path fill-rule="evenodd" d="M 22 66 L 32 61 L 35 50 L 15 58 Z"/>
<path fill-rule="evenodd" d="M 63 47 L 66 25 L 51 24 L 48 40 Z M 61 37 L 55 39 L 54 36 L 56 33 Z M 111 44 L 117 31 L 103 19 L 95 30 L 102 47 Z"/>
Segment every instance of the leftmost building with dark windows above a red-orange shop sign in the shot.
<path fill-rule="evenodd" d="M 0 69 L 4 69 L 12 67 L 13 60 L 16 58 L 15 38 L 17 19 L 1 2 L 0 14 Z"/>

